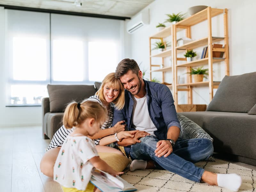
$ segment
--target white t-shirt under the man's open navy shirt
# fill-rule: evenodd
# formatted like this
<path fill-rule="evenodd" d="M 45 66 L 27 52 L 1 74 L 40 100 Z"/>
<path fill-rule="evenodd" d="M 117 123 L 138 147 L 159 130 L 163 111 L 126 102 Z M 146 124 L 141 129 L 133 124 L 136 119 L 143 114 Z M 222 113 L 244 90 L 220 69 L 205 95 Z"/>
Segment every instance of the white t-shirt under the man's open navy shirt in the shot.
<path fill-rule="evenodd" d="M 156 131 L 156 126 L 153 124 L 149 113 L 147 105 L 147 94 L 142 98 L 136 98 L 133 96 L 134 105 L 132 113 L 132 126 L 136 130 L 146 131 L 150 135 L 154 135 Z"/>

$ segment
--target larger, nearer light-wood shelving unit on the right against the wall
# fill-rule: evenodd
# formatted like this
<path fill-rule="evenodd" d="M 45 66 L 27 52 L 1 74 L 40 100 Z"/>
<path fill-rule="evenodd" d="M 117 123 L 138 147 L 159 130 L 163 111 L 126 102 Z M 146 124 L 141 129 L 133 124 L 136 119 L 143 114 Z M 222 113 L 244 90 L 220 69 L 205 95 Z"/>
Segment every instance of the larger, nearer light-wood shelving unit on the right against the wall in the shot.
<path fill-rule="evenodd" d="M 223 37 L 215 37 L 212 36 L 212 17 L 223 14 L 224 17 L 224 35 Z M 191 26 L 194 26 L 202 21 L 207 20 L 207 29 L 208 35 L 207 37 L 198 39 L 196 41 L 183 44 L 177 47 L 177 32 L 180 30 L 186 30 L 185 34 L 188 38 L 191 38 Z M 213 89 L 218 88 L 220 82 L 213 81 L 213 71 L 212 66 L 216 62 L 224 62 L 225 63 L 225 75 L 229 75 L 229 54 L 228 54 L 228 10 L 227 9 L 215 9 L 211 7 L 207 7 L 206 9 L 197 12 L 196 14 L 181 20 L 180 22 L 172 25 L 172 34 L 173 34 L 173 92 L 174 92 L 174 101 L 175 106 L 178 105 L 178 91 L 187 91 L 187 102 L 188 104 L 193 104 L 193 87 L 198 86 L 208 86 L 209 87 L 209 95 L 210 101 L 213 98 Z M 225 48 L 212 48 L 212 44 L 215 42 L 224 41 Z M 191 62 L 186 62 L 182 64 L 178 64 L 177 61 L 184 60 L 184 58 L 178 58 L 177 53 L 185 51 L 187 49 L 194 49 L 202 46 L 208 46 L 208 58 L 199 59 Z M 225 58 L 213 58 L 212 51 L 220 51 L 224 52 Z M 207 82 L 197 82 L 192 83 L 192 77 L 187 73 L 187 82 L 184 84 L 177 84 L 177 71 L 180 68 L 186 68 L 187 72 L 190 72 L 192 67 L 208 65 L 209 68 L 209 76 Z M 179 89 L 178 89 L 179 88 Z"/>

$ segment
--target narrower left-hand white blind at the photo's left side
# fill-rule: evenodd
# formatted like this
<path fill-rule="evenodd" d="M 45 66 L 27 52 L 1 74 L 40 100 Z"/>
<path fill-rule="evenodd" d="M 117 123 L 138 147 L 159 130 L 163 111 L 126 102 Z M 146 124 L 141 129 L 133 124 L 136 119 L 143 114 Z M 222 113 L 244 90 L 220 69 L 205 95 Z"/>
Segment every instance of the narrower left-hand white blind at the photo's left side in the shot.
<path fill-rule="evenodd" d="M 50 13 L 5 10 L 6 105 L 38 105 L 50 83 Z"/>

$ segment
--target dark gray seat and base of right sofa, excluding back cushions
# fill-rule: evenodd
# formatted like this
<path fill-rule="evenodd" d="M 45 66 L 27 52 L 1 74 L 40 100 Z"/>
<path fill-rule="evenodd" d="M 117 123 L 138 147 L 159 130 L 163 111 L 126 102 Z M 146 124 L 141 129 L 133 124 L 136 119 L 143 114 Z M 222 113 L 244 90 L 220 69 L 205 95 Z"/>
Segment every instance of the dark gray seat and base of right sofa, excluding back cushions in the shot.
<path fill-rule="evenodd" d="M 211 135 L 214 152 L 256 159 L 256 116 L 218 111 L 182 112 L 182 115 Z"/>

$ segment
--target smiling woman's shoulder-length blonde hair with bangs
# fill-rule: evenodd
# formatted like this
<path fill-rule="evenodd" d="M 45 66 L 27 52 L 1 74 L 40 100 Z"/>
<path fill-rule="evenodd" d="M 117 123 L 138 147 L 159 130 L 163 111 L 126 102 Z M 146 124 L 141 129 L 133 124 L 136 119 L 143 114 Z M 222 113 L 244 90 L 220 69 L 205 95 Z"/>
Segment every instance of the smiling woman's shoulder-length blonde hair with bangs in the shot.
<path fill-rule="evenodd" d="M 115 104 L 115 108 L 118 110 L 122 109 L 124 107 L 124 85 L 121 83 L 120 79 L 115 78 L 115 73 L 109 73 L 103 79 L 102 84 L 100 85 L 100 89 L 95 94 L 99 95 L 99 98 L 102 102 L 107 102 L 103 94 L 103 88 L 106 84 L 108 84 L 108 86 L 111 88 L 119 90 L 119 94 L 113 103 Z"/>

